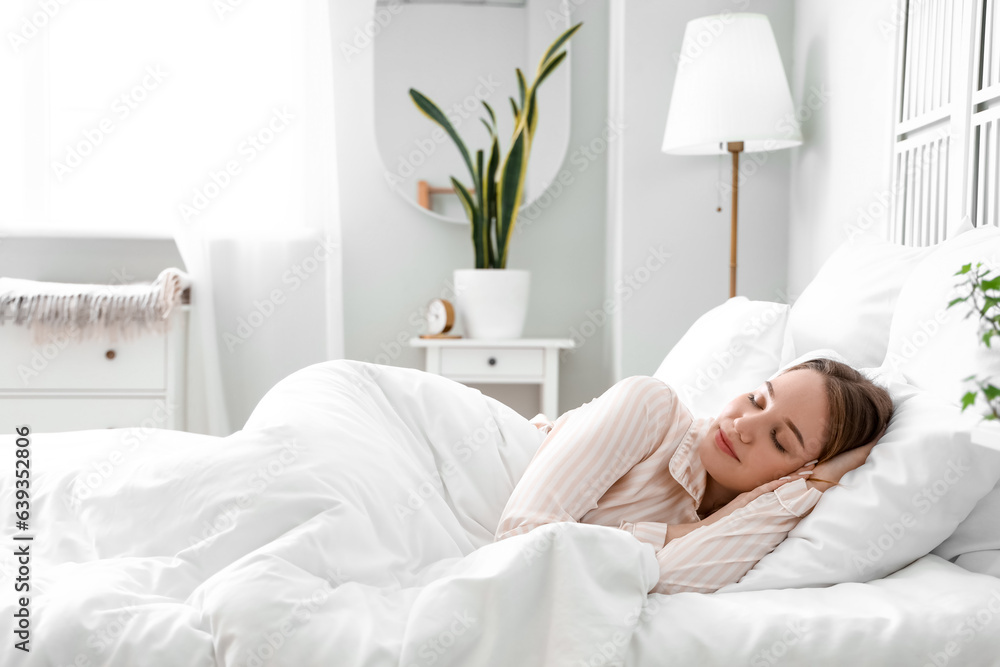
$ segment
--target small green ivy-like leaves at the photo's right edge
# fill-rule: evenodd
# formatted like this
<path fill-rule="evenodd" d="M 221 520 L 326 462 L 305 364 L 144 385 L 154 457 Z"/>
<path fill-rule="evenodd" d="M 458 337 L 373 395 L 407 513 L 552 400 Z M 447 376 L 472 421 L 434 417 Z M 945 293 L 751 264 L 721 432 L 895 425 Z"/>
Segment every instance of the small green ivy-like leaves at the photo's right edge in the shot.
<path fill-rule="evenodd" d="M 964 276 L 962 283 L 965 296 L 952 299 L 948 307 L 966 303 L 971 306 L 966 317 L 973 313 L 980 320 L 980 338 L 982 345 L 992 349 L 994 338 L 1000 340 L 1000 276 L 993 276 L 987 271 L 982 262 L 973 266 L 971 263 L 964 265 L 956 276 Z M 991 444 L 1000 448 L 1000 387 L 993 384 L 993 378 L 980 378 L 978 375 L 970 375 L 965 378 L 967 382 L 972 382 L 975 389 L 965 392 L 962 396 L 962 411 L 976 405 L 982 397 L 984 403 L 983 419 L 991 422 L 989 426 L 984 425 L 973 434 L 973 440 L 982 445 Z"/>

